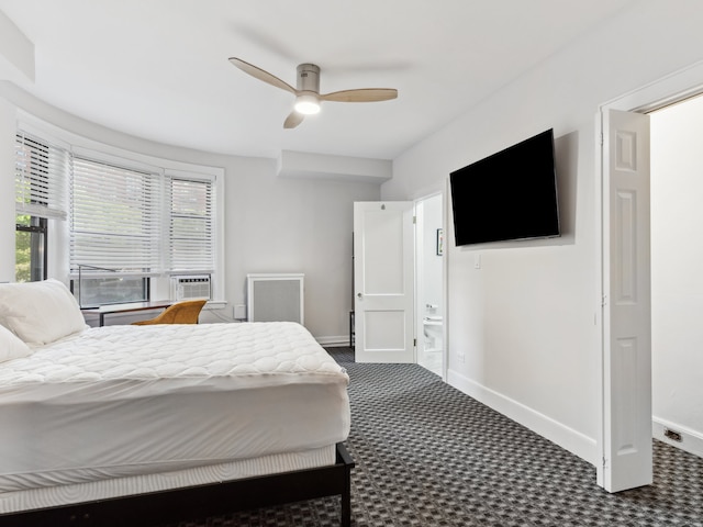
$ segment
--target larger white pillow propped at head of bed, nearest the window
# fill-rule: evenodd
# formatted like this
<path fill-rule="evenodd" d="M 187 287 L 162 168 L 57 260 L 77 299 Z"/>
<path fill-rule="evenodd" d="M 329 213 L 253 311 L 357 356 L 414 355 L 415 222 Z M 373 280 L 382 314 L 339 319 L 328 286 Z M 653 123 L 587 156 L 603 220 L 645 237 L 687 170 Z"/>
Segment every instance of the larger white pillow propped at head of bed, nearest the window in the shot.
<path fill-rule="evenodd" d="M 54 279 L 0 283 L 0 324 L 26 344 L 49 344 L 86 327 L 78 302 Z"/>

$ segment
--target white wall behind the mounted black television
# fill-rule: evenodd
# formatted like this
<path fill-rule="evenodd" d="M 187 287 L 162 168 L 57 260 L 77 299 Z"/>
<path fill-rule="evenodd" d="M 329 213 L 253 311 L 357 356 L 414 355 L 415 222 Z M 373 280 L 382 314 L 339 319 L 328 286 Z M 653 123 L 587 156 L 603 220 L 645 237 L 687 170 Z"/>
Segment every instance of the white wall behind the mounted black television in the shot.
<path fill-rule="evenodd" d="M 702 59 L 702 23 L 695 0 L 633 2 L 401 155 L 382 186 L 382 199 L 413 199 L 451 170 L 555 128 L 561 238 L 457 249 L 447 232 L 448 380 L 592 463 L 601 379 L 594 116 Z"/>

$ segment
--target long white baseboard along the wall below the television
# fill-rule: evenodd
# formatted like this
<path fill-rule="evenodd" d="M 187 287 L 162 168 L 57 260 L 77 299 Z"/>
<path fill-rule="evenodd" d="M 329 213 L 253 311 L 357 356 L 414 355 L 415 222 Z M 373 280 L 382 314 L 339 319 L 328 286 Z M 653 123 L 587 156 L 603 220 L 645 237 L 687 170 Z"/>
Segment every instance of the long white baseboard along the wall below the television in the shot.
<path fill-rule="evenodd" d="M 596 464 L 598 445 L 595 439 L 569 428 L 517 401 L 478 384 L 456 371 L 447 371 L 447 382 L 457 390 L 549 439 L 584 461 L 593 466 Z"/>

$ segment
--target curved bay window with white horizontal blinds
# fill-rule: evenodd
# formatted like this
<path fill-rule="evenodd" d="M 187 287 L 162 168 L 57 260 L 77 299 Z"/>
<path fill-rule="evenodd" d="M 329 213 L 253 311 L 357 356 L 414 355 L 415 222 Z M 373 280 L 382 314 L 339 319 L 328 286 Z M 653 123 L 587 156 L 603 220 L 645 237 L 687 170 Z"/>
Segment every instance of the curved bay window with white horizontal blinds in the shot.
<path fill-rule="evenodd" d="M 46 218 L 68 220 L 59 267 L 83 307 L 164 298 L 172 274 L 215 273 L 210 167 L 152 165 L 24 132 L 16 150 L 19 279 L 46 278 Z"/>

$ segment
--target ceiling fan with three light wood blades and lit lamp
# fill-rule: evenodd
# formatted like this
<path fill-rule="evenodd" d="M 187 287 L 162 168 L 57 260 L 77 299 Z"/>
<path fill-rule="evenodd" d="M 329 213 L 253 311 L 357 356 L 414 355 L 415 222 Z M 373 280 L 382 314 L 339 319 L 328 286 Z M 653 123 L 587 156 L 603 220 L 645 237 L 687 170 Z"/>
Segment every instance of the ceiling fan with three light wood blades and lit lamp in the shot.
<path fill-rule="evenodd" d="M 305 115 L 320 112 L 320 103 L 322 101 L 378 102 L 388 101 L 398 97 L 398 90 L 392 88 L 358 88 L 355 90 L 320 93 L 320 67 L 314 64 L 301 64 L 298 66 L 298 88 L 293 88 L 275 75 L 257 68 L 241 58 L 231 57 L 230 61 L 252 77 L 256 77 L 282 90 L 290 91 L 295 96 L 295 105 L 283 123 L 284 128 L 294 128 L 303 122 Z"/>

